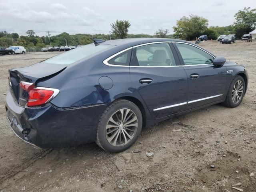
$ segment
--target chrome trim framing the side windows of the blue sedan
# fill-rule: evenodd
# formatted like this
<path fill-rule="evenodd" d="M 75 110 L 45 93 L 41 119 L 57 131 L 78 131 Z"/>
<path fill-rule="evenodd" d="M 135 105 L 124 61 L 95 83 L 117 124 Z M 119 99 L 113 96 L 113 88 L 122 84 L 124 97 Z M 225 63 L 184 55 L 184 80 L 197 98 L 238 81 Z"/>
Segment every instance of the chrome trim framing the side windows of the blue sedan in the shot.
<path fill-rule="evenodd" d="M 196 46 L 196 45 L 193 45 L 193 44 L 190 44 L 190 43 L 186 43 L 186 42 L 178 42 L 178 41 L 159 41 L 159 42 L 150 42 L 150 43 L 144 43 L 144 44 L 140 44 L 140 45 L 136 45 L 136 46 L 132 46 L 132 47 L 129 47 L 127 49 L 124 49 L 120 52 L 117 52 L 116 54 L 106 58 L 103 63 L 105 65 L 108 65 L 108 66 L 113 66 L 113 67 L 134 67 L 134 68 L 138 68 L 138 67 L 148 67 L 148 68 L 160 68 L 160 67 L 180 67 L 180 66 L 199 66 L 199 65 L 209 65 L 209 64 L 198 64 L 198 65 L 174 65 L 174 66 L 127 66 L 127 65 L 112 65 L 112 64 L 109 64 L 108 61 L 112 58 L 114 58 L 115 56 L 121 54 L 122 52 L 125 52 L 127 50 L 130 50 L 132 48 L 136 48 L 136 47 L 140 47 L 140 46 L 144 46 L 144 45 L 150 45 L 150 44 L 157 44 L 157 43 L 183 43 L 183 44 L 188 44 L 188 45 L 191 45 L 191 46 L 194 46 L 206 53 L 208 53 L 209 55 L 213 56 L 212 54 L 210 54 L 209 52 L 207 52 L 206 50 L 203 50 L 202 48 Z M 213 56 L 215 58 L 215 56 Z M 212 65 L 212 64 L 210 64 Z"/>

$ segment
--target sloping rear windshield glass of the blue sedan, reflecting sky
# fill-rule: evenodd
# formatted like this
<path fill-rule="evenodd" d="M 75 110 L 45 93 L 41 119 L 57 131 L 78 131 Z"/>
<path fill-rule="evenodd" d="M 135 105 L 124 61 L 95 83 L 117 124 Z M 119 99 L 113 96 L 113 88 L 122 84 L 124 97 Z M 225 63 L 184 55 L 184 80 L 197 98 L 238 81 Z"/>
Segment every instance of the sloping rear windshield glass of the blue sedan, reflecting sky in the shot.
<path fill-rule="evenodd" d="M 70 50 L 68 52 L 59 54 L 57 56 L 54 56 L 50 59 L 45 60 L 44 62 L 50 63 L 50 64 L 72 64 L 78 60 L 89 58 L 90 56 L 93 56 L 94 54 L 98 54 L 102 52 L 103 50 L 106 50 L 110 47 L 113 47 L 114 45 L 104 45 L 104 44 L 88 44 L 73 50 Z"/>

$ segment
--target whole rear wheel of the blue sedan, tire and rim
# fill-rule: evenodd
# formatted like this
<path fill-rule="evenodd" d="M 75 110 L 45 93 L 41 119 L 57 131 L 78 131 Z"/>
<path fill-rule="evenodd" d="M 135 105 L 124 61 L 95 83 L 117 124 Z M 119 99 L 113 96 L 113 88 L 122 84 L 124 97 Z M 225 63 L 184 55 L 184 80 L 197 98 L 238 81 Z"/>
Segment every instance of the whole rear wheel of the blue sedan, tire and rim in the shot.
<path fill-rule="evenodd" d="M 96 143 L 108 152 L 122 152 L 137 140 L 142 129 L 138 106 L 120 99 L 110 104 L 100 117 Z"/>

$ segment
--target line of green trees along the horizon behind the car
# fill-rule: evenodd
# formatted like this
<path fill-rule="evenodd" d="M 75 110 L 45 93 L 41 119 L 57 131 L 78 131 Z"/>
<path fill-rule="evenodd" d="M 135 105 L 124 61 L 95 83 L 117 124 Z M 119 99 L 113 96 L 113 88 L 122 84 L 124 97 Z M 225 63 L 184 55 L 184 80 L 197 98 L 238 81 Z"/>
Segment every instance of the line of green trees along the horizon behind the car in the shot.
<path fill-rule="evenodd" d="M 256 27 L 256 9 L 250 7 L 239 10 L 235 15 L 235 22 L 229 26 L 208 26 L 206 18 L 190 14 L 183 16 L 173 27 L 174 34 L 169 34 L 169 29 L 160 28 L 154 35 L 148 34 L 128 34 L 131 24 L 127 20 L 116 20 L 110 24 L 112 34 L 68 34 L 63 32 L 55 36 L 37 36 L 34 30 L 28 30 L 26 36 L 19 36 L 17 33 L 0 32 L 0 46 L 8 47 L 13 44 L 34 48 L 39 50 L 46 46 L 65 46 L 67 45 L 85 45 L 93 42 L 93 38 L 104 40 L 120 38 L 141 38 L 141 37 L 159 37 L 159 38 L 179 38 L 183 40 L 195 40 L 200 35 L 207 35 L 208 39 L 216 40 L 219 35 L 235 33 L 237 38 L 243 34 L 248 34 Z M 49 34 L 50 35 L 50 34 Z"/>

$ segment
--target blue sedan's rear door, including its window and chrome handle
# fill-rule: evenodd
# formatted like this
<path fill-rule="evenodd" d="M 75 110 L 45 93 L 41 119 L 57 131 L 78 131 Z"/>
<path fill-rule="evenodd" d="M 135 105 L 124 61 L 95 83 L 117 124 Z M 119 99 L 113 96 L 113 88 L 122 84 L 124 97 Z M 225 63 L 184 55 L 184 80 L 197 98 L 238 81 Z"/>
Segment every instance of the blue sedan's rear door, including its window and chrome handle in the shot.
<path fill-rule="evenodd" d="M 172 44 L 154 42 L 134 46 L 130 78 L 155 118 L 185 110 L 187 76 Z"/>

